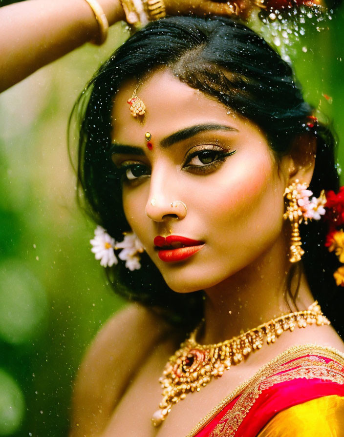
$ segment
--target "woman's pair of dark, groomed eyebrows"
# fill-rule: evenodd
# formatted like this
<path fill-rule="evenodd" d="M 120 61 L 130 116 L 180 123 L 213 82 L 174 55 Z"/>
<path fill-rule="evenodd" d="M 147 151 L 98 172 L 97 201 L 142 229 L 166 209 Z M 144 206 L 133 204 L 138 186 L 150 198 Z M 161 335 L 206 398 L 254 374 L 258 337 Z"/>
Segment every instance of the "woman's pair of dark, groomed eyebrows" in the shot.
<path fill-rule="evenodd" d="M 194 126 L 187 127 L 178 132 L 175 132 L 172 135 L 169 135 L 168 137 L 163 138 L 160 141 L 160 145 L 162 148 L 165 149 L 171 147 L 176 142 L 192 138 L 199 133 L 208 132 L 208 131 L 218 131 L 218 130 L 237 132 L 237 129 L 235 129 L 234 127 L 226 126 L 223 124 L 209 124 L 209 123 L 196 124 Z M 129 146 L 125 144 L 119 144 L 116 142 L 112 144 L 110 152 L 111 154 L 118 153 L 118 154 L 145 155 L 145 152 L 141 147 Z"/>

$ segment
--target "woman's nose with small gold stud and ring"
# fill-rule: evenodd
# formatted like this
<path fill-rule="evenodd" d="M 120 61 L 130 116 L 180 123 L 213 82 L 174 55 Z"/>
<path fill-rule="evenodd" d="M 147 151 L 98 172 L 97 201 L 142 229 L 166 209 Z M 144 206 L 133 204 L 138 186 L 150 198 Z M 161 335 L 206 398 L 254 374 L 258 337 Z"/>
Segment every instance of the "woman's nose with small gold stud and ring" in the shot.
<path fill-rule="evenodd" d="M 155 176 L 155 177 L 154 177 Z M 146 203 L 146 216 L 153 221 L 161 222 L 168 219 L 184 219 L 187 214 L 186 204 L 180 199 L 178 187 L 167 178 L 166 173 L 159 178 L 151 174 L 151 186 Z M 174 189 L 175 188 L 175 189 Z"/>

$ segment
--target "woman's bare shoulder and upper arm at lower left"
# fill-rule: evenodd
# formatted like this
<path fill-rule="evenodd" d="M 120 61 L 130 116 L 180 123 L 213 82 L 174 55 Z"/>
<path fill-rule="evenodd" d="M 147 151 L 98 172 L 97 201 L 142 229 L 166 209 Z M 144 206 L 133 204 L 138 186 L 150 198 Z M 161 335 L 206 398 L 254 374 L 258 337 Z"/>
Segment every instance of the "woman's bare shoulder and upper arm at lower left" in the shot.
<path fill-rule="evenodd" d="M 71 437 L 98 435 L 149 351 L 170 326 L 138 304 L 112 316 L 89 346 L 72 398 Z"/>

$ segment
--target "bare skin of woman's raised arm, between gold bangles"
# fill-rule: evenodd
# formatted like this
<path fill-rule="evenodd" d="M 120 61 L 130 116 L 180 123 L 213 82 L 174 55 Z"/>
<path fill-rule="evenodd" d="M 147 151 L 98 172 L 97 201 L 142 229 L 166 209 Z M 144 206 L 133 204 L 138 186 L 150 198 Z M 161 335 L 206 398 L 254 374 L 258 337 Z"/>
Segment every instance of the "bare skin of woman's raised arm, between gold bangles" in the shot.
<path fill-rule="evenodd" d="M 108 24 L 126 20 L 119 0 L 97 0 Z M 227 3 L 164 0 L 168 15 L 233 15 Z M 0 92 L 85 42 L 99 26 L 86 0 L 26 0 L 0 8 Z"/>

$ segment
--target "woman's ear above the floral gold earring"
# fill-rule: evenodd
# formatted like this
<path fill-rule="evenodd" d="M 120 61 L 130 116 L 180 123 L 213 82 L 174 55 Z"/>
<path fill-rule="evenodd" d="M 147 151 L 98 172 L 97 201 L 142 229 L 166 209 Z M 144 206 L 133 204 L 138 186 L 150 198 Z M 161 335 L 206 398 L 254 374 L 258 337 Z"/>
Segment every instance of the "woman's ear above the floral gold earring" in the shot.
<path fill-rule="evenodd" d="M 309 186 L 314 172 L 316 150 L 317 139 L 313 134 L 300 134 L 293 140 L 289 154 L 281 159 L 286 186 L 297 179 Z"/>

